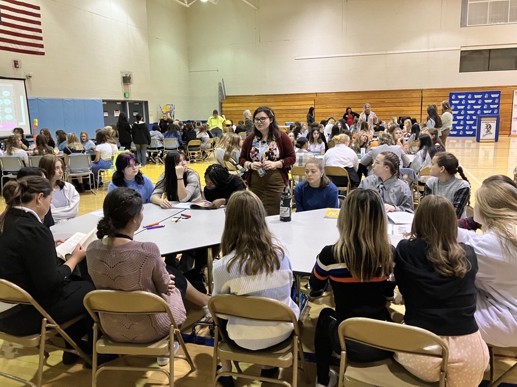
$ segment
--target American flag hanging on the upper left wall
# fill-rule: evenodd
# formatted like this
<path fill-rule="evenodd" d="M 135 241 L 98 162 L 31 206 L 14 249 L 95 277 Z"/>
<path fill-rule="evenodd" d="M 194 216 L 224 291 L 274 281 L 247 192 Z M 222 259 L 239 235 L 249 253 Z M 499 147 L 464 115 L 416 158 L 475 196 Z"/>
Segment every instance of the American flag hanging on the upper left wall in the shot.
<path fill-rule="evenodd" d="M 0 0 L 0 50 L 45 55 L 36 0 Z"/>

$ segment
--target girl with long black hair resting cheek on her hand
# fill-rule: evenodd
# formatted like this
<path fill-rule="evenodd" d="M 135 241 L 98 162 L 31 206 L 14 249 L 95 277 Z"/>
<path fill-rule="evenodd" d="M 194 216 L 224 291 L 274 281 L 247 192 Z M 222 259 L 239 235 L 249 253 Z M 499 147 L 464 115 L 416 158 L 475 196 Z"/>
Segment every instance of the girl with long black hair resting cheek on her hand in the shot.
<path fill-rule="evenodd" d="M 187 168 L 185 153 L 169 152 L 165 156 L 165 171 L 158 178 L 156 187 L 151 194 L 151 203 L 162 208 L 172 208 L 171 202 L 195 202 L 200 199 L 199 174 Z"/>

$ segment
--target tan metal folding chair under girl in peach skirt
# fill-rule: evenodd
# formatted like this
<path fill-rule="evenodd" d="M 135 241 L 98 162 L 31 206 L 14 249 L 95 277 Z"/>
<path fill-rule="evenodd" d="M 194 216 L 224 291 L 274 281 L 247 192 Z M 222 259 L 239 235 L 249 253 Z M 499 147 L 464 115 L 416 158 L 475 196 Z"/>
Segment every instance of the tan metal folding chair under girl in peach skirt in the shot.
<path fill-rule="evenodd" d="M 341 322 L 338 335 L 341 344 L 339 387 L 343 385 L 445 387 L 449 348 L 447 343 L 434 333 L 395 322 L 354 317 Z M 345 340 L 388 351 L 441 359 L 440 379 L 436 383 L 424 382 L 410 374 L 392 358 L 374 363 L 350 362 L 346 357 Z"/>

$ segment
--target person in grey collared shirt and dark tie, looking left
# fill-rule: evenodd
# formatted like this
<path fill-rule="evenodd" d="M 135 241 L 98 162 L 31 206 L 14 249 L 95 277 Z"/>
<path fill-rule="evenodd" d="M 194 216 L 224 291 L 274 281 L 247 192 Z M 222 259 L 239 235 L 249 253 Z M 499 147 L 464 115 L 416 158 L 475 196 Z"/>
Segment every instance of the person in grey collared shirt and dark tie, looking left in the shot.
<path fill-rule="evenodd" d="M 386 212 L 405 211 L 413 214 L 413 196 L 407 184 L 399 179 L 399 163 L 399 157 L 393 152 L 379 153 L 373 160 L 373 175 L 364 179 L 359 188 L 379 192 Z"/>

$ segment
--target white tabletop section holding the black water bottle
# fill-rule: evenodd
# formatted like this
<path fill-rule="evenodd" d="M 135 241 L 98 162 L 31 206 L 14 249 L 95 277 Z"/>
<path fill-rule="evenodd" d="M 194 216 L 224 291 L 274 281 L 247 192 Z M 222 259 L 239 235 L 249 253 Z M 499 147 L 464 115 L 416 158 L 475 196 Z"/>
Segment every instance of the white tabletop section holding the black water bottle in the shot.
<path fill-rule="evenodd" d="M 268 216 L 269 230 L 287 248 L 293 272 L 309 275 L 316 256 L 327 245 L 338 241 L 338 220 L 324 218 L 326 208 L 294 213 L 290 222 L 281 222 L 278 215 Z M 389 235 L 391 244 L 397 246 L 402 235 Z"/>

